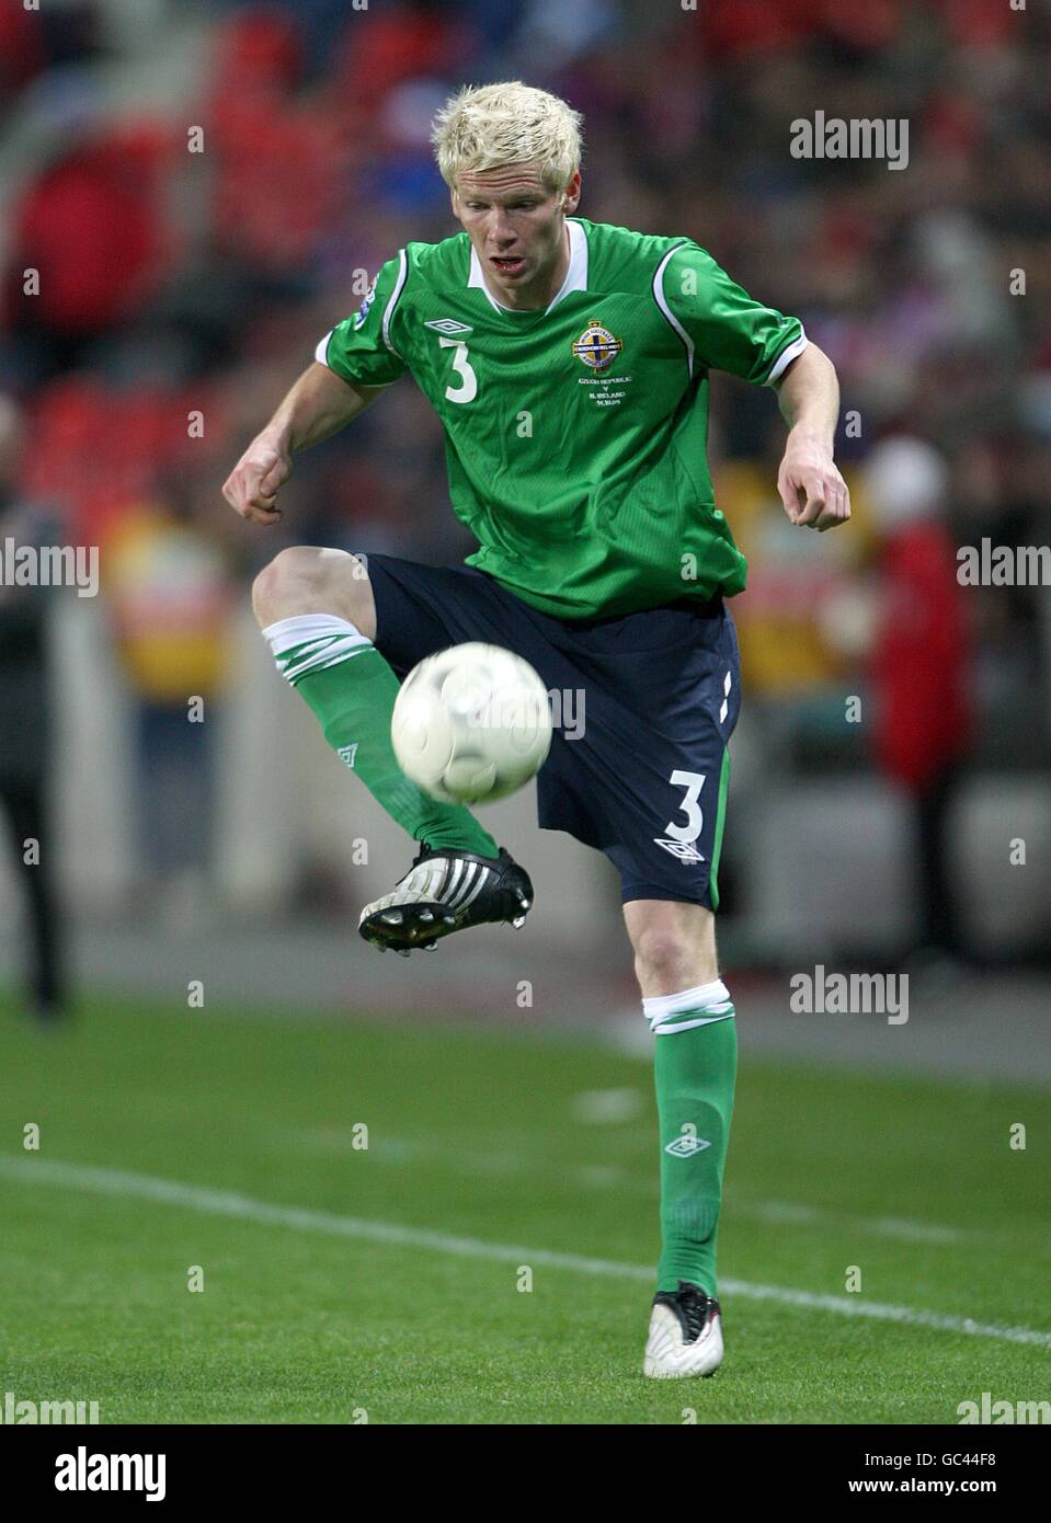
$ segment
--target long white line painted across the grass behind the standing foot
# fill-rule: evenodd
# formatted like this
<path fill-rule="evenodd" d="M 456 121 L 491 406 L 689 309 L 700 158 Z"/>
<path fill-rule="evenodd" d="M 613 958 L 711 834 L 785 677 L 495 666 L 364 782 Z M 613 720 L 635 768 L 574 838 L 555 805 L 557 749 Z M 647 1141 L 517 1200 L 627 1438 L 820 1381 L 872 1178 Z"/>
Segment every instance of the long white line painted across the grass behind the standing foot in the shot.
<path fill-rule="evenodd" d="M 653 1270 L 644 1264 L 625 1264 L 609 1258 L 583 1258 L 579 1253 L 559 1253 L 542 1247 L 518 1247 L 512 1243 L 486 1243 L 481 1238 L 452 1237 L 448 1232 L 433 1232 L 426 1228 L 407 1228 L 395 1221 L 369 1221 L 363 1217 L 344 1217 L 334 1211 L 312 1211 L 306 1206 L 279 1206 L 268 1200 L 254 1200 L 230 1189 L 209 1189 L 206 1185 L 186 1185 L 175 1179 L 157 1179 L 151 1174 L 131 1174 L 117 1168 L 96 1168 L 90 1164 L 59 1164 L 44 1157 L 0 1156 L 0 1176 L 20 1185 L 55 1185 L 59 1189 L 87 1191 L 94 1196 L 117 1196 L 122 1199 L 148 1200 L 152 1205 L 183 1206 L 187 1211 L 203 1211 L 213 1217 L 238 1217 L 265 1226 L 292 1228 L 299 1232 L 321 1232 L 326 1237 L 356 1238 L 369 1243 L 387 1243 L 398 1247 L 433 1249 L 436 1253 L 452 1253 L 457 1258 L 480 1258 L 497 1264 L 530 1264 L 545 1269 L 565 1269 L 579 1275 L 602 1275 L 608 1279 L 653 1279 Z M 774 1301 L 783 1307 L 801 1307 L 809 1311 L 835 1311 L 841 1316 L 865 1317 L 873 1322 L 897 1322 L 902 1327 L 931 1328 L 937 1333 L 967 1333 L 973 1337 L 996 1339 L 1001 1343 L 1024 1343 L 1033 1348 L 1051 1348 L 1051 1333 L 1036 1328 L 1008 1328 L 992 1322 L 975 1322 L 972 1317 L 946 1316 L 940 1311 L 922 1311 L 912 1307 L 894 1307 L 879 1301 L 855 1301 L 850 1296 L 815 1295 L 809 1290 L 784 1290 L 781 1285 L 759 1285 L 748 1279 L 720 1281 L 724 1295 L 749 1301 Z"/>

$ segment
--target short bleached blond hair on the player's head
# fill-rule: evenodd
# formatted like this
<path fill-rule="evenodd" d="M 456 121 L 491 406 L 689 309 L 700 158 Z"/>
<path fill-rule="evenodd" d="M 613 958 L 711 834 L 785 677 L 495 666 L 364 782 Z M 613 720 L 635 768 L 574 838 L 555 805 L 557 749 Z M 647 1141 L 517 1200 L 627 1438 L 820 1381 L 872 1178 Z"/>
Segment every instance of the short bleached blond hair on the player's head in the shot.
<path fill-rule="evenodd" d="M 562 190 L 580 168 L 583 117 L 565 101 L 521 79 L 465 85 L 434 117 L 431 142 L 442 178 L 455 190 L 463 171 L 539 163 L 541 178 Z"/>

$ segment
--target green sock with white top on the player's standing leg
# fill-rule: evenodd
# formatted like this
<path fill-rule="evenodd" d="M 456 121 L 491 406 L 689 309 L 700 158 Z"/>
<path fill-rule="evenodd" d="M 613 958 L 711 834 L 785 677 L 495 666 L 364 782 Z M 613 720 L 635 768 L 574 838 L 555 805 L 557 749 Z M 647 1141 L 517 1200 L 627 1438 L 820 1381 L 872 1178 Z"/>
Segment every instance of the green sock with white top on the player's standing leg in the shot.
<path fill-rule="evenodd" d="M 734 1007 L 725 985 L 716 982 L 647 999 L 644 1010 L 656 1034 L 653 1074 L 661 1138 L 656 1288 L 678 1290 L 679 1281 L 687 1279 L 714 1296 L 719 1208 L 737 1077 Z"/>

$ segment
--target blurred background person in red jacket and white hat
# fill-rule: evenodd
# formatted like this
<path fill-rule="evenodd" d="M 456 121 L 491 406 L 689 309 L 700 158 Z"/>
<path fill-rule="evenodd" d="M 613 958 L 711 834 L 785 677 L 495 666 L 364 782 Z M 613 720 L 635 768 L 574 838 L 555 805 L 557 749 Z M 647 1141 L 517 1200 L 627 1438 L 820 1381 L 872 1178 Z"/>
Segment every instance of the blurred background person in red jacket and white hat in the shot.
<path fill-rule="evenodd" d="M 883 539 L 870 653 L 874 758 L 912 806 L 914 950 L 955 958 L 961 935 L 947 824 L 970 740 L 970 659 L 955 545 L 944 524 L 949 472 L 931 445 L 896 436 L 873 449 L 865 486 Z"/>

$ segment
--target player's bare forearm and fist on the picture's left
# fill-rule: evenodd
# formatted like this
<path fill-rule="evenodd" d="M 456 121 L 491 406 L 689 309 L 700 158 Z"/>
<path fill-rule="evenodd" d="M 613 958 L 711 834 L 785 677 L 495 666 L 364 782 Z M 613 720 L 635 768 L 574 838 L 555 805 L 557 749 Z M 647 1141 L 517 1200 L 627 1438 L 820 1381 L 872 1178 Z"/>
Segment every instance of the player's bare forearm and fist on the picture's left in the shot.
<path fill-rule="evenodd" d="M 256 524 L 280 519 L 277 492 L 292 474 L 292 455 L 338 434 L 384 387 L 353 385 L 317 361 L 289 390 L 230 472 L 222 495 Z"/>

